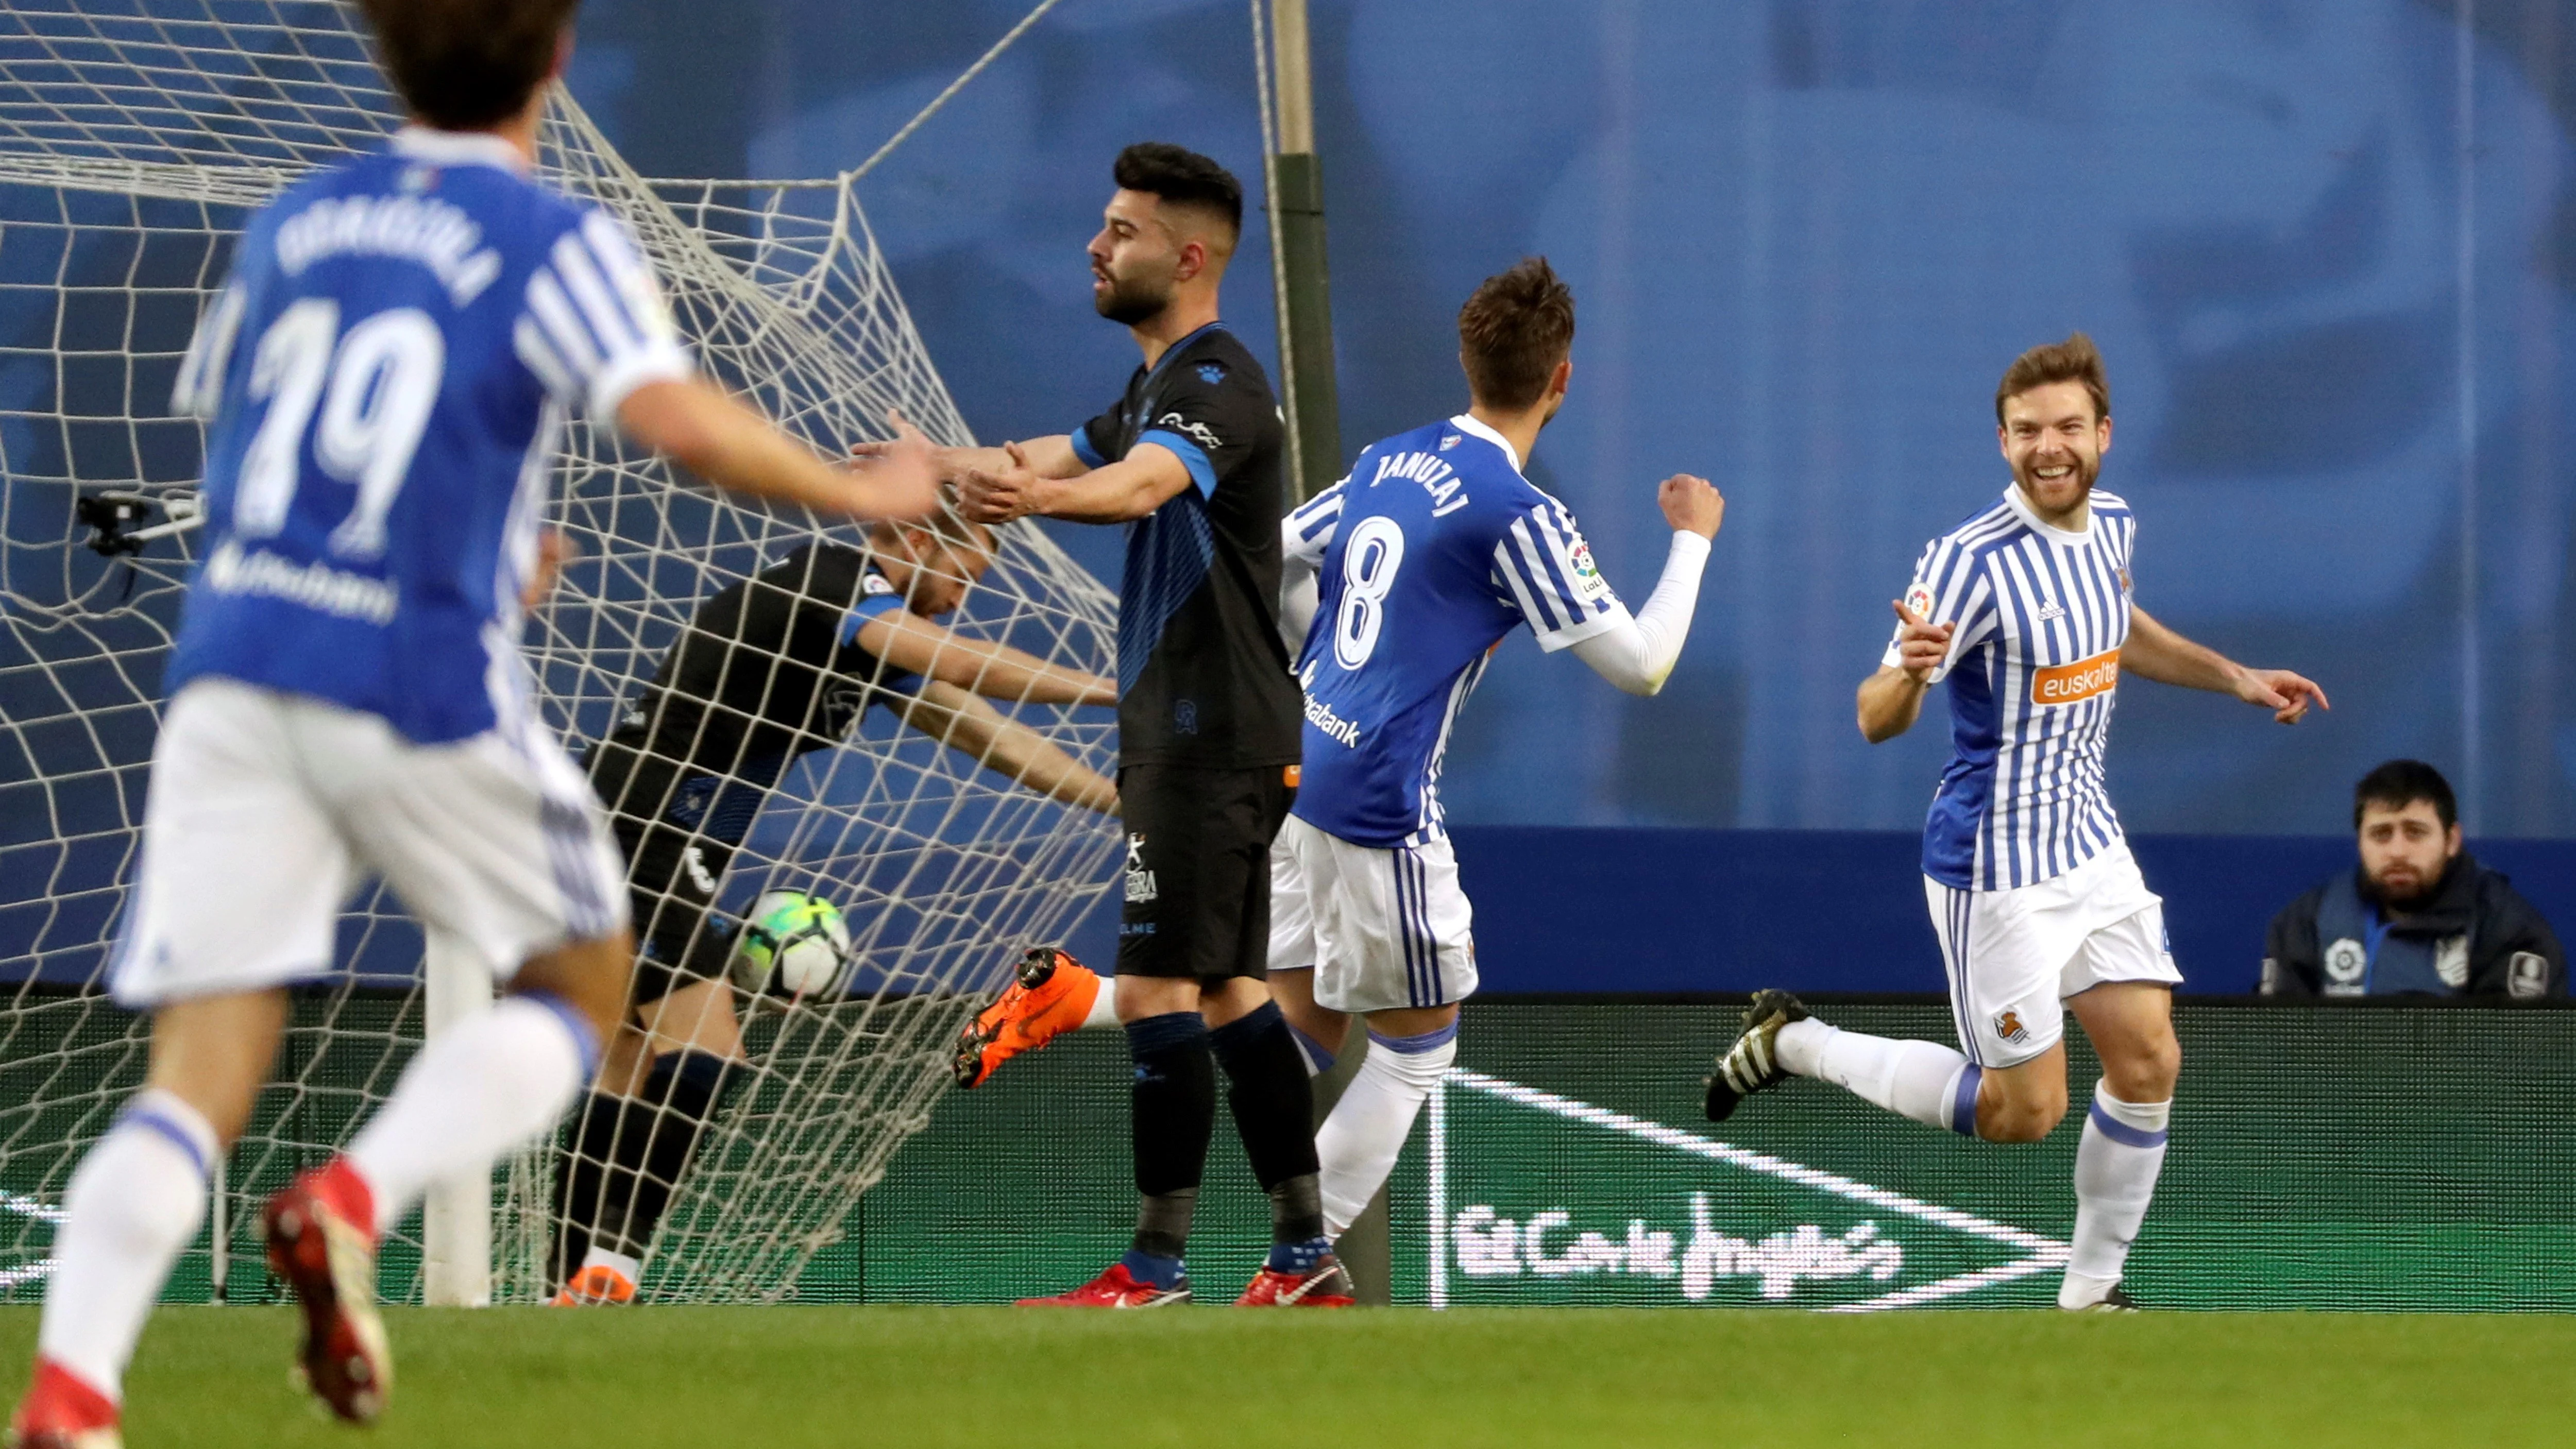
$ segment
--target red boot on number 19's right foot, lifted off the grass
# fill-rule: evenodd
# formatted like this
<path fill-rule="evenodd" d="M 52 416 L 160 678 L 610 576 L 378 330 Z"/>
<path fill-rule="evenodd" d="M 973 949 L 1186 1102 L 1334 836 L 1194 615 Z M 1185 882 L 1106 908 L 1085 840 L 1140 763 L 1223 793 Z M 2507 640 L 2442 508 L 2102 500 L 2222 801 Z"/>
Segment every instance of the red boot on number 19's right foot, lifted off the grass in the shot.
<path fill-rule="evenodd" d="M 268 1199 L 268 1271 L 304 1305 L 304 1387 L 350 1423 L 374 1423 L 394 1392 L 376 1315 L 376 1199 L 332 1158 Z"/>

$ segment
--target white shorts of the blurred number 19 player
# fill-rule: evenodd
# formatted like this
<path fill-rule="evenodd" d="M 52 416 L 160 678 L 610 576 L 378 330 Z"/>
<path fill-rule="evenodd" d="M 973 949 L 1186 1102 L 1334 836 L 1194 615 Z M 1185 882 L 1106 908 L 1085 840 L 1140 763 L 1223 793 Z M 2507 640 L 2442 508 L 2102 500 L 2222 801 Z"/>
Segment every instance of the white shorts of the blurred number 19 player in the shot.
<path fill-rule="evenodd" d="M 531 955 L 626 924 L 616 842 L 541 726 L 425 746 L 379 715 L 201 679 L 170 700 L 152 746 L 116 1001 L 327 973 L 363 875 L 502 981 Z"/>

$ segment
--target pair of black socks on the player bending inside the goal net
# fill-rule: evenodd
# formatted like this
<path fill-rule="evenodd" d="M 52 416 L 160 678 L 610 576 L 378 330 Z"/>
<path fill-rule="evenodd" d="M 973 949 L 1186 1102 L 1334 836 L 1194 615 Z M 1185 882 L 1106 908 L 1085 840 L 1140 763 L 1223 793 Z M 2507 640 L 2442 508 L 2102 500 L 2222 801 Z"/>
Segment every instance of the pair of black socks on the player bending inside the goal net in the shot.
<path fill-rule="evenodd" d="M 556 1282 L 582 1266 L 592 1243 L 644 1256 L 706 1122 L 739 1076 L 729 1066 L 708 1053 L 670 1053 L 652 1063 L 639 1096 L 590 1094 L 574 1158 L 556 1179 Z"/>

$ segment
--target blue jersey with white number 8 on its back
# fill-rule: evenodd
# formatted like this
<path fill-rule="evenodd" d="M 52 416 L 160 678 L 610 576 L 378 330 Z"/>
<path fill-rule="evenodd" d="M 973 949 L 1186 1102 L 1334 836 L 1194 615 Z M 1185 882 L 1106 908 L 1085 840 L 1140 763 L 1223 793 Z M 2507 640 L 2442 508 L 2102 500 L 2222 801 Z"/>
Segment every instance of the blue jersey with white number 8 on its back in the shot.
<path fill-rule="evenodd" d="M 1296 816 L 1352 844 L 1440 839 L 1440 754 L 1502 636 L 1528 623 L 1553 654 L 1628 620 L 1574 517 L 1473 417 L 1370 445 L 1285 543 L 1321 569 Z"/>

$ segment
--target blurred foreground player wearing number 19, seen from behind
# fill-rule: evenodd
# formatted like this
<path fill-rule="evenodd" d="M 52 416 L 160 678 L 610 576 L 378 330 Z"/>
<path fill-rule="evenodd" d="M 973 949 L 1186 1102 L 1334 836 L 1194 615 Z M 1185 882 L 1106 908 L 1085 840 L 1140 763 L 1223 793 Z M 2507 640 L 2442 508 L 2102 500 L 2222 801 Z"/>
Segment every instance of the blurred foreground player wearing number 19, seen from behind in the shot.
<path fill-rule="evenodd" d="M 18 1449 L 118 1441 L 134 1338 L 361 875 L 510 996 L 422 1042 L 348 1153 L 268 1202 L 332 1413 L 371 1421 L 392 1390 L 379 1235 L 590 1081 L 626 1006 L 621 870 L 515 649 L 567 414 L 827 515 L 938 504 L 917 435 L 842 471 L 696 381 L 626 229 L 531 180 L 572 0 L 366 8 L 412 126 L 252 216 L 178 373 L 209 553 L 111 965 L 152 1066 L 64 1192 Z"/>

